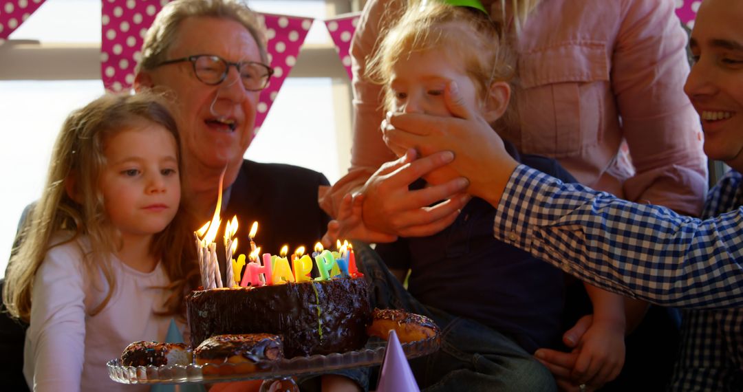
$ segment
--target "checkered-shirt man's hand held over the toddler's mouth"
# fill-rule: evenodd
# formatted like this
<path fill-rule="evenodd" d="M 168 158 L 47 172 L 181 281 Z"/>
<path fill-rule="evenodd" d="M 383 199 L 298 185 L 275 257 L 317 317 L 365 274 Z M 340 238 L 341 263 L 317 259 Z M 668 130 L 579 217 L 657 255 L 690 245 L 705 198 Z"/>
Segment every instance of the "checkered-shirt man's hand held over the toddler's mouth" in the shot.
<path fill-rule="evenodd" d="M 414 148 L 423 157 L 437 151 L 452 151 L 455 159 L 448 167 L 467 177 L 470 181 L 467 192 L 497 205 L 518 163 L 505 151 L 503 141 L 487 121 L 474 108 L 467 107 L 455 82 L 447 83 L 444 102 L 454 117 L 390 114 L 383 131 L 385 143 L 393 151 Z M 432 171 L 426 179 L 437 183 L 453 175 L 451 171 Z"/>

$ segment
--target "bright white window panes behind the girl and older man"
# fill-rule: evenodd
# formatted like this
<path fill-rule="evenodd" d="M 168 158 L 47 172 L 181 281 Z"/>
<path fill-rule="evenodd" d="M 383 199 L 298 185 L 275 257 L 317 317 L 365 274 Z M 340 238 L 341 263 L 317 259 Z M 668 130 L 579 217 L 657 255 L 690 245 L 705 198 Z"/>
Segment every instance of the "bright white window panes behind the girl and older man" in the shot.
<path fill-rule="evenodd" d="M 316 18 L 305 44 L 331 42 L 322 23 L 327 12 L 325 1 L 248 4 L 259 12 Z M 100 10 L 101 0 L 47 0 L 10 39 L 100 43 Z M 331 183 L 338 180 L 345 170 L 340 169 L 337 154 L 337 109 L 332 91 L 330 78 L 286 79 L 245 157 L 304 166 L 322 172 Z M 4 134 L 0 165 L 7 168 L 0 174 L 6 191 L 4 203 L 0 203 L 0 277 L 4 276 L 21 213 L 42 193 L 51 148 L 62 122 L 72 110 L 100 94 L 100 80 L 0 81 L 0 129 Z M 348 105 L 341 108 L 348 110 Z"/>

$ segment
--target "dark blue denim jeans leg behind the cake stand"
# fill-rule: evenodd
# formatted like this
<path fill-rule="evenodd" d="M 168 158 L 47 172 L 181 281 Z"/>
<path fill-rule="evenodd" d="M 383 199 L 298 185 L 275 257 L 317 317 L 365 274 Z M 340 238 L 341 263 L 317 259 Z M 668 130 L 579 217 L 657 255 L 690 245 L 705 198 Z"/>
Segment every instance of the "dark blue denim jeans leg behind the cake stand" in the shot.
<path fill-rule="evenodd" d="M 426 307 L 405 290 L 374 249 L 357 241 L 353 246 L 357 267 L 369 282 L 373 307 L 418 313 L 441 328 L 441 349 L 409 361 L 421 389 L 557 391 L 549 370 L 513 340 L 477 321 Z"/>

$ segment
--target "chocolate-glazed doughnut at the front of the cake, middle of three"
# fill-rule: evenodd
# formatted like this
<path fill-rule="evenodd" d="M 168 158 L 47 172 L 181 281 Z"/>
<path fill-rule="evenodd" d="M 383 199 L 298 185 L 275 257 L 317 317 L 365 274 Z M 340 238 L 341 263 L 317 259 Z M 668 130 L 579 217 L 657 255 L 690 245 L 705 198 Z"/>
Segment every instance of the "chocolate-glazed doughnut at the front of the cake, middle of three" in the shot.
<path fill-rule="evenodd" d="M 204 375 L 253 373 L 267 368 L 267 362 L 282 359 L 284 349 L 281 338 L 269 333 L 241 335 L 215 335 L 193 350 L 195 362 L 204 365 Z M 213 366 L 226 363 L 234 366 Z"/>

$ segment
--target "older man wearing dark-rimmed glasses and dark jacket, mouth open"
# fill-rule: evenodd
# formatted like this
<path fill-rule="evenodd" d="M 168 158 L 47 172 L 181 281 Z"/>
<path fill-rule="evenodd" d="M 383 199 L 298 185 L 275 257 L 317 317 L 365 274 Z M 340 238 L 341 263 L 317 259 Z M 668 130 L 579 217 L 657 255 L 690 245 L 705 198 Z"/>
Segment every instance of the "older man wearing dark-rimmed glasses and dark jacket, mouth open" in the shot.
<path fill-rule="evenodd" d="M 256 134 L 260 91 L 273 73 L 256 14 L 237 1 L 172 1 L 150 27 L 141 53 L 137 91 L 172 98 L 194 229 L 210 219 L 225 171 L 221 216 L 237 215 L 247 227 L 258 221 L 262 249 L 276 253 L 284 244 L 313 246 L 322 238 L 328 217 L 317 206 L 317 192 L 328 184 L 325 176 L 243 159 Z"/>

